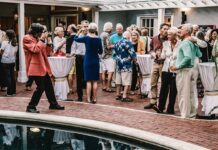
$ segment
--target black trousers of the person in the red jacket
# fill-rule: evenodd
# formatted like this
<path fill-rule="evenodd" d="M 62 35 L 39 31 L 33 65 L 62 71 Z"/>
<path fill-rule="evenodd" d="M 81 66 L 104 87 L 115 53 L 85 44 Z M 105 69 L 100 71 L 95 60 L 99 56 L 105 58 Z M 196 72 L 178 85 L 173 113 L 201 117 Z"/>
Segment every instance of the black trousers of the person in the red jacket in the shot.
<path fill-rule="evenodd" d="M 46 74 L 45 76 L 31 76 L 31 78 L 35 81 L 37 87 L 30 100 L 28 108 L 36 108 L 44 91 L 50 105 L 57 105 L 58 103 L 50 76 Z"/>

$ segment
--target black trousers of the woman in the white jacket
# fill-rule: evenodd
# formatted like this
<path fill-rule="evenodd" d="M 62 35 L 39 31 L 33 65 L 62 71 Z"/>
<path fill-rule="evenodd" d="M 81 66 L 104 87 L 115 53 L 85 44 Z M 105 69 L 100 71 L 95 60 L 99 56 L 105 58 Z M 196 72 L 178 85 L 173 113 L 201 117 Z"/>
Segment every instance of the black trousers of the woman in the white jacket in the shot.
<path fill-rule="evenodd" d="M 169 104 L 167 107 L 168 113 L 174 113 L 174 105 L 176 101 L 176 74 L 170 72 L 162 72 L 161 89 L 158 108 L 163 111 L 165 109 L 167 97 L 169 94 Z"/>

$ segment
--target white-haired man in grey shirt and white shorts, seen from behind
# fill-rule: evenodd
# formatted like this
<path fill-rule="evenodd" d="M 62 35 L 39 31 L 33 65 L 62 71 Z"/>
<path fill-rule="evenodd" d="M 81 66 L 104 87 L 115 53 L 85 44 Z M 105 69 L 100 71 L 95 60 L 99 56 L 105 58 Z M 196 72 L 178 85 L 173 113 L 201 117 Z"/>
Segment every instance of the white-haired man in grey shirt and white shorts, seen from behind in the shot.
<path fill-rule="evenodd" d="M 111 80 L 115 71 L 115 62 L 112 58 L 112 47 L 110 45 L 110 34 L 113 30 L 113 24 L 106 22 L 104 24 L 104 31 L 101 33 L 101 40 L 103 45 L 103 54 L 101 56 L 102 62 L 102 90 L 105 92 L 113 92 L 111 90 Z M 108 73 L 108 79 L 106 80 L 106 72 Z"/>

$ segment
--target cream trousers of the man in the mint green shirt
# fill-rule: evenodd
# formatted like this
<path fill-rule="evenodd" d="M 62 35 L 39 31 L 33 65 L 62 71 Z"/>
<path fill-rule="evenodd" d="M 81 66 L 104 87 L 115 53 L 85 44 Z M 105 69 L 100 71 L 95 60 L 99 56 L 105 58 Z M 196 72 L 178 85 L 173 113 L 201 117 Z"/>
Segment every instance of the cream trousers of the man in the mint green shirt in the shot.
<path fill-rule="evenodd" d="M 193 69 L 181 69 L 177 72 L 176 84 L 178 90 L 178 103 L 182 118 L 194 117 L 197 114 L 194 98 Z"/>

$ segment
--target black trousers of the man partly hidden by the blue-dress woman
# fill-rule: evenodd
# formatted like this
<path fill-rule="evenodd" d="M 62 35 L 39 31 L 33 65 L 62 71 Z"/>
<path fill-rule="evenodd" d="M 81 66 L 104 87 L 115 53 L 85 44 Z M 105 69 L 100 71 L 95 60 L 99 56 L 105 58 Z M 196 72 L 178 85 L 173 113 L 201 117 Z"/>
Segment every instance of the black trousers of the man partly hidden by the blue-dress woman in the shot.
<path fill-rule="evenodd" d="M 82 55 L 76 55 L 76 88 L 79 99 L 82 99 L 83 88 L 85 87 L 83 59 Z"/>

